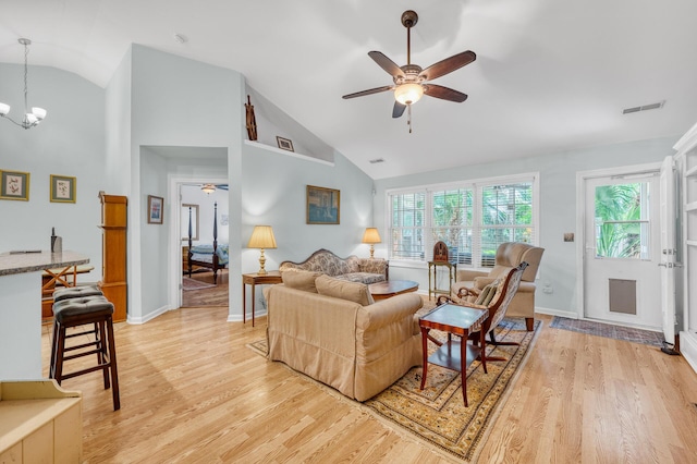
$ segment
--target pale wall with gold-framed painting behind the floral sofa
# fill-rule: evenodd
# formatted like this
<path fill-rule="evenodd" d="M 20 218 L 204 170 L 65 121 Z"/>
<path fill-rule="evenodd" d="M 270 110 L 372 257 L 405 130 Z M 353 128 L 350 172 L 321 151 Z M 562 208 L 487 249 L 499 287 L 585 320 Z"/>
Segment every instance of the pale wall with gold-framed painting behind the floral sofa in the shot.
<path fill-rule="evenodd" d="M 273 228 L 277 249 L 267 249 L 266 269 L 278 269 L 283 260 L 302 261 L 313 252 L 327 248 L 339 256 L 369 255 L 360 243 L 371 227 L 372 180 L 334 152 L 334 166 L 294 158 L 278 150 L 245 146 L 242 184 L 242 241 L 246 245 L 254 225 Z M 339 225 L 306 223 L 306 186 L 335 188 L 341 194 Z M 259 251 L 243 249 L 245 272 L 259 269 Z"/>

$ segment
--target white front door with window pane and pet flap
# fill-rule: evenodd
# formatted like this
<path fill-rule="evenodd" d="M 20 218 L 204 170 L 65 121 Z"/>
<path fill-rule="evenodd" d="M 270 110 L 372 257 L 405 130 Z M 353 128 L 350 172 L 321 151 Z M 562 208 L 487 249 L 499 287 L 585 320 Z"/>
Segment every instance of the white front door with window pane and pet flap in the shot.
<path fill-rule="evenodd" d="M 660 330 L 658 170 L 584 182 L 584 316 Z"/>

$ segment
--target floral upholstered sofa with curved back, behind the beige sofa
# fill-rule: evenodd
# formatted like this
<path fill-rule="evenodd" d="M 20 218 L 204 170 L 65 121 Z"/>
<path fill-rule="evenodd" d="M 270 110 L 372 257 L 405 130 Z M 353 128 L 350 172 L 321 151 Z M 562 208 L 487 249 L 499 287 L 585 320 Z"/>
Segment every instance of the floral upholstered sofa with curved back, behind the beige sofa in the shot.
<path fill-rule="evenodd" d="M 283 261 L 279 270 L 281 272 L 290 270 L 321 272 L 337 279 L 367 284 L 382 282 L 389 278 L 389 265 L 384 259 L 359 258 L 353 255 L 340 258 L 325 248 L 313 253 L 303 262 Z"/>

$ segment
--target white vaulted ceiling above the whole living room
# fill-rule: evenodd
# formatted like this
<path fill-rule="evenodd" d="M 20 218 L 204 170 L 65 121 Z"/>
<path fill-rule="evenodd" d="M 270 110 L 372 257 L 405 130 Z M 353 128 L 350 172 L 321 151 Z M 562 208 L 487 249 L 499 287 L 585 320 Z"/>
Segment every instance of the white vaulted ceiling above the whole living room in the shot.
<path fill-rule="evenodd" d="M 367 53 L 406 64 L 405 10 L 413 63 L 477 53 L 436 81 L 469 98 L 425 97 L 411 134 L 391 93 L 341 98 L 392 84 Z M 0 62 L 23 62 L 27 37 L 29 64 L 102 87 L 131 44 L 233 69 L 382 179 L 678 136 L 697 121 L 695 17 L 694 0 L 0 0 Z"/>

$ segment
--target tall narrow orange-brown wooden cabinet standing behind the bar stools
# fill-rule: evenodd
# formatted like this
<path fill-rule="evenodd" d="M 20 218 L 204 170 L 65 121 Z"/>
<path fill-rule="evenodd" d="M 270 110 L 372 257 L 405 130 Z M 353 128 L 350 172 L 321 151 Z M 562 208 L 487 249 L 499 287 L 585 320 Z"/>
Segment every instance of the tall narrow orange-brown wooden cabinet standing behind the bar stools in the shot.
<path fill-rule="evenodd" d="M 101 200 L 101 276 L 99 282 L 107 300 L 113 303 L 113 321 L 126 320 L 126 218 L 125 196 L 99 194 Z"/>

